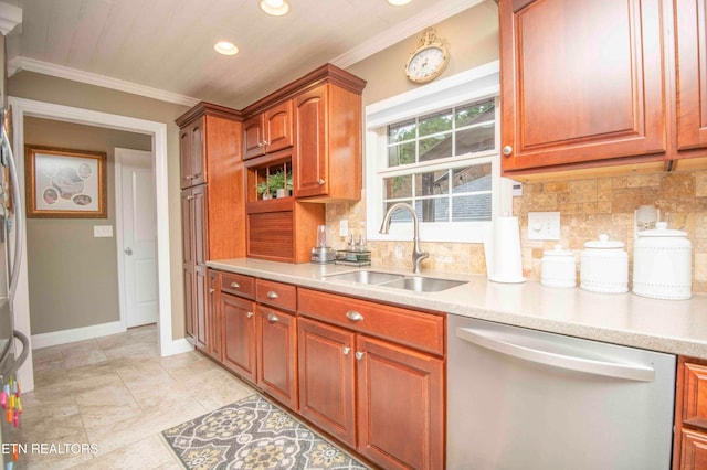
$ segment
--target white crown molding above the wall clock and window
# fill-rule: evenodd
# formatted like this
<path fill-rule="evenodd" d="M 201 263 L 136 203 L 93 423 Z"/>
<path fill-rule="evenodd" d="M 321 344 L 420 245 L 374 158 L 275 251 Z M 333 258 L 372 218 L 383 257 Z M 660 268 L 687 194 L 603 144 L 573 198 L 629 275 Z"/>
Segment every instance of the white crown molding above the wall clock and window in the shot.
<path fill-rule="evenodd" d="M 435 4 L 421 11 L 403 23 L 391 26 L 384 33 L 362 42 L 360 45 L 345 52 L 329 62 L 337 67 L 347 68 L 357 62 L 376 54 L 377 52 L 388 49 L 391 45 L 419 33 L 428 26 L 454 17 L 455 14 L 475 7 L 483 1 L 484 0 L 445 0 L 440 4 Z"/>

